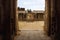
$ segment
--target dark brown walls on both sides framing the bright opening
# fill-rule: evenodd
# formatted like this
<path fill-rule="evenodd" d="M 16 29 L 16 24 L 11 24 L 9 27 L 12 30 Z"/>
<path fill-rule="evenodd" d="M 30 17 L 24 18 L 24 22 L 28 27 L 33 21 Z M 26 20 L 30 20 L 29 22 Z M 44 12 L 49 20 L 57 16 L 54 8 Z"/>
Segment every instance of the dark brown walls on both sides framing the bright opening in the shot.
<path fill-rule="evenodd" d="M 0 0 L 0 37 L 13 40 L 17 32 L 17 0 Z M 45 31 L 54 40 L 60 40 L 60 0 L 45 0 Z"/>

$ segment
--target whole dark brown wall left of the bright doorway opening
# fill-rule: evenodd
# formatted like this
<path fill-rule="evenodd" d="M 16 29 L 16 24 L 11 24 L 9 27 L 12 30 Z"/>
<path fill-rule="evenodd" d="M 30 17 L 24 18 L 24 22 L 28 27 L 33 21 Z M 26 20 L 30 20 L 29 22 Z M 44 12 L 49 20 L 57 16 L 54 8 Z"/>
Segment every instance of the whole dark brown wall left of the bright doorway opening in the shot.
<path fill-rule="evenodd" d="M 13 40 L 16 32 L 16 0 L 0 0 L 0 30 L 3 40 Z"/>

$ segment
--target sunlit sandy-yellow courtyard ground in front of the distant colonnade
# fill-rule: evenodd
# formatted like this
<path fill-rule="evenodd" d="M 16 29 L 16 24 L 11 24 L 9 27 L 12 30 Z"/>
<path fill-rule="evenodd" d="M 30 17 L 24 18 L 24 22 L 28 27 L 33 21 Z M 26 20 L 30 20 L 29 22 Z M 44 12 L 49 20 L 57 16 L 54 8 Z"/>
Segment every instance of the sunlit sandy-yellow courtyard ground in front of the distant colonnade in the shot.
<path fill-rule="evenodd" d="M 18 21 L 19 30 L 44 30 L 44 21 Z"/>

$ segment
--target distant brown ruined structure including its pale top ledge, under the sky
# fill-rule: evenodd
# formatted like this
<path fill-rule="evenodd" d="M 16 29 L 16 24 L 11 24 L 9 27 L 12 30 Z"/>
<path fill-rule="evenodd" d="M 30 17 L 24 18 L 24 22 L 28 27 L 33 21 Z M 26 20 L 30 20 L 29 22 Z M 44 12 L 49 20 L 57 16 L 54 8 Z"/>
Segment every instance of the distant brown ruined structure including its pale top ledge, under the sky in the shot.
<path fill-rule="evenodd" d="M 43 21 L 44 11 L 20 11 L 18 10 L 18 20 L 20 21 Z"/>

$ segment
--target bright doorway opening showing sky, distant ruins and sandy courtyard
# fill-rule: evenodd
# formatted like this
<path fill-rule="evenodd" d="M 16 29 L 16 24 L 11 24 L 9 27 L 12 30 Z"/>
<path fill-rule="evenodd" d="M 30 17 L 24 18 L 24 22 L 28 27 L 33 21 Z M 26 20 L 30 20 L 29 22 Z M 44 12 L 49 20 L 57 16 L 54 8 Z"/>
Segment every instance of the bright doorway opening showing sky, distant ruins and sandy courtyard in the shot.
<path fill-rule="evenodd" d="M 43 30 L 45 0 L 18 0 L 19 30 Z"/>

